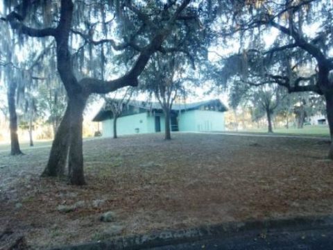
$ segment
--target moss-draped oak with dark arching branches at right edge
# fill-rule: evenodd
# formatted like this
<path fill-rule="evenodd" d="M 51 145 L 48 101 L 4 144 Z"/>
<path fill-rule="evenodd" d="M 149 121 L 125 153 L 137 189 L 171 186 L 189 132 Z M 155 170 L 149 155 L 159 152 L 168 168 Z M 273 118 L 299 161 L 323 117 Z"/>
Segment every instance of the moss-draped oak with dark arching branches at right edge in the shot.
<path fill-rule="evenodd" d="M 221 83 L 277 83 L 289 92 L 323 95 L 333 141 L 332 1 L 225 1 L 224 6 L 234 14 L 220 19 L 216 32 L 237 40 L 239 51 L 223 60 Z"/>

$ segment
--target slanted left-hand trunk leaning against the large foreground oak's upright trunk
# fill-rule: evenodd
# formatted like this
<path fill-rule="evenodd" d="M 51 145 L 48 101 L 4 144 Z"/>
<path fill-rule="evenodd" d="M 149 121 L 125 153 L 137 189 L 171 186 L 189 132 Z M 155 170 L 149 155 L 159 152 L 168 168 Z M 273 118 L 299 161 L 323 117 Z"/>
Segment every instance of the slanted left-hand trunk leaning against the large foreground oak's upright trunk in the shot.
<path fill-rule="evenodd" d="M 49 162 L 47 163 L 42 176 L 64 176 L 65 167 L 69 149 L 69 122 L 70 122 L 70 108 L 67 106 L 64 117 L 60 122 L 58 130 L 56 131 Z"/>

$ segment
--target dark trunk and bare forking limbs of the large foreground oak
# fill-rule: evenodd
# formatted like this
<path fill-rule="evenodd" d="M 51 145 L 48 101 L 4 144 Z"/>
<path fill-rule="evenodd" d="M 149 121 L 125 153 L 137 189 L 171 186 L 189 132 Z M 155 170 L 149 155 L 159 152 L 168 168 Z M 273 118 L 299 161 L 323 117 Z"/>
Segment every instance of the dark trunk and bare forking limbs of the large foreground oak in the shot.
<path fill-rule="evenodd" d="M 24 5 L 26 5 L 26 3 L 28 3 L 28 5 L 30 4 L 30 1 L 23 2 Z M 146 47 L 140 49 L 140 54 L 137 57 L 133 67 L 131 67 L 131 69 L 125 75 L 112 81 L 83 78 L 79 83 L 76 79 L 71 60 L 71 53 L 69 51 L 69 33 L 71 31 L 71 21 L 74 11 L 73 1 L 61 0 L 60 17 L 58 26 L 56 28 L 38 29 L 26 26 L 22 22 L 26 17 L 26 13 L 22 17 L 19 16 L 20 19 L 17 18 L 15 12 L 11 12 L 9 15 L 7 15 L 7 21 L 10 23 L 10 26 L 12 29 L 18 30 L 19 33 L 36 38 L 52 36 L 56 39 L 57 69 L 69 97 L 69 107 L 67 108 L 69 109 L 69 114 L 66 117 L 66 119 L 69 120 L 67 120 L 67 124 L 65 124 L 63 119 L 62 128 L 59 128 L 57 131 L 56 138 L 53 141 L 51 154 L 52 151 L 54 151 L 53 153 L 60 156 L 60 159 L 50 154 L 49 163 L 52 163 L 54 160 L 56 167 L 49 167 L 48 164 L 44 171 L 46 175 L 55 174 L 54 170 L 61 170 L 61 168 L 59 168 L 60 162 L 66 158 L 65 156 L 67 156 L 67 150 L 69 149 L 69 181 L 71 184 L 75 185 L 85 184 L 85 179 L 83 176 L 82 122 L 83 110 L 85 108 L 88 95 L 92 93 L 106 94 L 127 85 L 137 86 L 138 76 L 142 74 L 148 63 L 148 60 L 151 58 L 153 53 L 162 48 L 162 43 L 172 32 L 176 20 L 180 16 L 182 10 L 184 10 L 189 5 L 189 2 L 190 0 L 182 1 L 180 6 L 178 6 L 174 14 L 170 17 L 166 26 L 154 35 L 153 39 L 148 45 L 146 45 Z M 69 130 L 67 129 L 68 124 Z M 167 128 L 169 128 L 169 124 Z M 68 138 L 69 148 L 65 143 Z M 62 143 L 64 143 L 63 145 L 65 145 L 65 147 L 62 147 Z"/>

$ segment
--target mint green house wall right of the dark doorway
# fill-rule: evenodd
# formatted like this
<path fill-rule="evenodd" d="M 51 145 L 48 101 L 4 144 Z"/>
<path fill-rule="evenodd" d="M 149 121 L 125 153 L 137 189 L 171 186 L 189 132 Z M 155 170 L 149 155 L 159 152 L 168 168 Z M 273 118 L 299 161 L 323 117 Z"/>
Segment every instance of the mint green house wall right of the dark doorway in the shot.
<path fill-rule="evenodd" d="M 224 113 L 190 110 L 178 115 L 179 131 L 224 131 Z"/>

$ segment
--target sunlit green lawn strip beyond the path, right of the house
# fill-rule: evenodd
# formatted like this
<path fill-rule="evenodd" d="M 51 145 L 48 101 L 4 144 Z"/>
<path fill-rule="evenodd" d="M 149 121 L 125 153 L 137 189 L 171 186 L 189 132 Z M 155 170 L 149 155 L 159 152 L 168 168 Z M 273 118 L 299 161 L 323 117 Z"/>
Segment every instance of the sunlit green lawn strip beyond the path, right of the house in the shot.
<path fill-rule="evenodd" d="M 268 128 L 253 128 L 246 129 L 241 132 L 250 132 L 250 133 L 267 133 Z M 305 125 L 303 128 L 273 128 L 275 134 L 283 135 L 300 135 L 300 136 L 316 136 L 316 137 L 330 137 L 330 130 L 328 126 L 325 125 Z"/>

